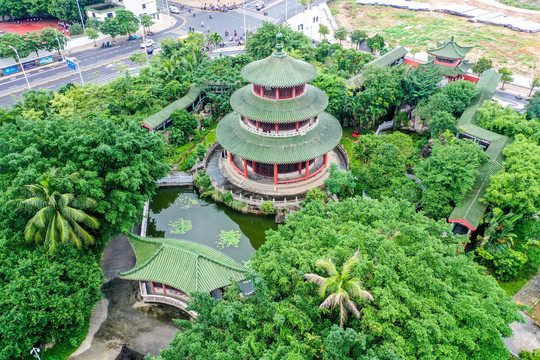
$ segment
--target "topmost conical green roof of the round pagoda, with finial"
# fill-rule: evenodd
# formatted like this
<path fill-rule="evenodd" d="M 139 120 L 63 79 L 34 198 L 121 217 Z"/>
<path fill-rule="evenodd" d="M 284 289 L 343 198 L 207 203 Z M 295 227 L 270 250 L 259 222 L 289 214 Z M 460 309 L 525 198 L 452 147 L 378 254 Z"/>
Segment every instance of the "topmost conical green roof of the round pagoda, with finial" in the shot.
<path fill-rule="evenodd" d="M 242 69 L 246 81 L 268 87 L 292 87 L 307 84 L 317 77 L 317 68 L 296 60 L 283 51 L 283 36 L 276 36 L 276 51 L 266 59 L 254 61 Z"/>

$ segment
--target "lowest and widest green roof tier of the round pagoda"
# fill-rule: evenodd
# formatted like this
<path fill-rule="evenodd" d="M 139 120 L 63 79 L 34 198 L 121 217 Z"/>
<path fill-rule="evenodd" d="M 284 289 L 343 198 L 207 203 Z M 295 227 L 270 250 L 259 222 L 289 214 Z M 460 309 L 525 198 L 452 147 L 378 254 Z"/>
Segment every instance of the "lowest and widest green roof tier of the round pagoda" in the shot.
<path fill-rule="evenodd" d="M 305 135 L 277 138 L 254 134 L 240 124 L 240 116 L 231 113 L 217 127 L 217 140 L 226 150 L 244 159 L 267 164 L 307 161 L 333 150 L 341 140 L 341 125 L 323 112 L 317 125 Z"/>

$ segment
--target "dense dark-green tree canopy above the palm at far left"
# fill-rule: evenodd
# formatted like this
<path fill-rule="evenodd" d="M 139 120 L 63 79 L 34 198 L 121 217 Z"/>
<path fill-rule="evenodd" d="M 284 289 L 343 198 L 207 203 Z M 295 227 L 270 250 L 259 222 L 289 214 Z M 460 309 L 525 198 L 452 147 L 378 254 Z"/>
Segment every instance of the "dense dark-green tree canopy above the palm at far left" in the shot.
<path fill-rule="evenodd" d="M 34 183 L 52 166 L 78 172 L 60 190 L 93 198 L 105 234 L 130 229 L 167 172 L 159 136 L 101 117 L 21 118 L 2 126 L 0 143 L 0 188 Z"/>

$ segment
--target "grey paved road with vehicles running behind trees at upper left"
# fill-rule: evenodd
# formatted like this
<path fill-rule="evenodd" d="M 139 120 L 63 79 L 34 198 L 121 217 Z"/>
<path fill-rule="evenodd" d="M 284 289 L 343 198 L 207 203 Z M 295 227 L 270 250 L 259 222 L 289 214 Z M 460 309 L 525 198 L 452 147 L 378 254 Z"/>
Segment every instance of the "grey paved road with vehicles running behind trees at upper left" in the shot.
<path fill-rule="evenodd" d="M 245 24 L 248 30 L 259 28 L 263 20 L 273 23 L 285 21 L 285 9 L 288 10 L 287 17 L 291 17 L 303 8 L 299 0 L 267 1 L 268 16 L 264 16 L 261 11 L 255 9 L 256 1 L 248 0 L 246 2 Z M 169 3 L 171 5 L 174 4 L 172 1 Z M 209 15 L 212 16 L 212 19 L 209 18 Z M 242 8 L 227 13 L 203 11 L 201 9 L 192 9 L 191 12 L 188 12 L 188 8 L 186 8 L 180 14 L 175 15 L 175 17 L 178 20 L 176 25 L 159 32 L 151 38 L 157 42 L 164 37 L 185 35 L 189 27 L 193 27 L 195 30 L 203 33 L 208 33 L 207 27 L 210 27 L 210 32 L 218 32 L 222 36 L 224 36 L 226 30 L 231 34 L 234 30 L 237 30 L 239 36 L 244 33 L 244 9 Z M 204 22 L 203 27 L 201 27 L 201 21 Z M 225 40 L 227 46 L 235 45 L 227 41 L 228 39 Z M 117 61 L 124 68 L 127 67 L 130 73 L 137 73 L 139 66 L 131 62 L 129 56 L 137 51 L 141 51 L 141 42 L 142 38 L 139 37 L 133 41 L 118 42 L 111 48 L 102 49 L 98 47 L 74 54 L 80 60 L 84 81 L 103 84 L 117 78 L 123 71 L 117 69 L 117 65 L 113 64 L 114 61 Z M 233 53 L 238 53 L 238 51 Z M 27 72 L 27 74 L 32 88 L 56 90 L 62 84 L 81 82 L 79 74 L 69 69 L 65 63 L 43 67 Z M 26 89 L 27 85 L 22 73 L 14 77 L 0 78 L 0 106 L 5 107 L 14 104 L 16 98 Z"/>

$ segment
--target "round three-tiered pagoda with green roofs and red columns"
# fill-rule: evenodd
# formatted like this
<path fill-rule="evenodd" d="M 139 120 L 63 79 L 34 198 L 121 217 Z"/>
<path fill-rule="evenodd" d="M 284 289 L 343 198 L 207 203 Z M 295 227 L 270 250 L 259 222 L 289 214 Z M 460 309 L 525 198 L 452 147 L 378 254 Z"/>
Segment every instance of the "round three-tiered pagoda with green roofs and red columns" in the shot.
<path fill-rule="evenodd" d="M 317 69 L 288 56 L 278 34 L 274 53 L 246 65 L 242 76 L 251 85 L 232 95 L 234 112 L 217 128 L 229 170 L 274 185 L 297 184 L 324 171 L 341 126 L 324 112 L 326 94 L 308 85 Z"/>

